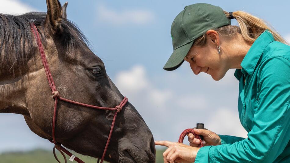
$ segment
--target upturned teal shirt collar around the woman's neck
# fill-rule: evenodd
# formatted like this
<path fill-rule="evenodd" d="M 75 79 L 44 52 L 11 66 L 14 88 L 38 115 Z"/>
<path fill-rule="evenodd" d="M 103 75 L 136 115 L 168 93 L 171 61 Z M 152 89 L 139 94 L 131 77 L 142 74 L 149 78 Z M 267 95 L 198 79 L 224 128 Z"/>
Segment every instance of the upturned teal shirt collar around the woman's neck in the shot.
<path fill-rule="evenodd" d="M 267 45 L 269 45 L 273 41 L 275 41 L 275 39 L 269 30 L 264 31 L 255 40 L 255 42 L 253 43 L 253 45 L 251 46 L 251 48 L 249 49 L 248 53 L 246 54 L 245 58 L 241 63 L 242 67 L 241 72 L 243 74 L 248 73 L 249 75 L 252 75 L 262 53 L 264 52 L 264 49 L 266 48 Z"/>

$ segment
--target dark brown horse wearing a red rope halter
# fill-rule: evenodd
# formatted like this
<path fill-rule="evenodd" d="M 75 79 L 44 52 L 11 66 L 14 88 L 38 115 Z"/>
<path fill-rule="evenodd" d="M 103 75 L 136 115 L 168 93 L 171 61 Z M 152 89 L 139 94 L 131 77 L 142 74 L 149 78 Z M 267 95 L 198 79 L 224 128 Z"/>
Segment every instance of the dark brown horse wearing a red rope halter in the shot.
<path fill-rule="evenodd" d="M 82 31 L 67 20 L 67 3 L 61 6 L 58 0 L 46 0 L 46 4 L 47 13 L 0 14 L 0 113 L 22 114 L 32 132 L 53 140 L 57 99 L 51 94 L 31 23 L 40 35 L 60 96 L 110 108 L 118 106 L 124 96 Z M 55 141 L 79 154 L 101 158 L 117 110 L 92 109 L 62 100 L 56 109 Z M 154 138 L 143 118 L 129 102 L 118 111 L 104 160 L 155 162 Z"/>

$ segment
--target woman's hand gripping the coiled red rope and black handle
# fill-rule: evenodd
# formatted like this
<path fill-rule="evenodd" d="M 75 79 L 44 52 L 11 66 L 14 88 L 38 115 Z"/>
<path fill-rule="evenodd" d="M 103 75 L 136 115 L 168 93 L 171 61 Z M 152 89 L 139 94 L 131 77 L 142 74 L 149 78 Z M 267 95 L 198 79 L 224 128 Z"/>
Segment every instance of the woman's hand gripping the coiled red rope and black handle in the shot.
<path fill-rule="evenodd" d="M 194 133 L 203 136 L 204 141 L 202 141 L 202 143 L 204 146 L 216 146 L 221 144 L 220 137 L 216 133 L 209 131 L 208 129 L 193 128 L 193 130 Z M 188 134 L 187 136 L 188 141 L 190 142 L 189 145 L 191 147 L 198 147 L 198 145 L 200 144 L 200 140 L 195 138 L 192 133 Z"/>

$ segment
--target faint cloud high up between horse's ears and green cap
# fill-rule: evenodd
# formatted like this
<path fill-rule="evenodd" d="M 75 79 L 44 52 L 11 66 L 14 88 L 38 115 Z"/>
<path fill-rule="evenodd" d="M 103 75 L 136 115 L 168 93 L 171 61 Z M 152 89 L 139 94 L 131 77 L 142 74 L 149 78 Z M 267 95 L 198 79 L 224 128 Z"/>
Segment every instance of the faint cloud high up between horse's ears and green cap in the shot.
<path fill-rule="evenodd" d="M 154 19 L 154 14 L 147 10 L 128 9 L 115 11 L 105 5 L 98 6 L 97 16 L 100 20 L 114 25 L 147 24 Z"/>

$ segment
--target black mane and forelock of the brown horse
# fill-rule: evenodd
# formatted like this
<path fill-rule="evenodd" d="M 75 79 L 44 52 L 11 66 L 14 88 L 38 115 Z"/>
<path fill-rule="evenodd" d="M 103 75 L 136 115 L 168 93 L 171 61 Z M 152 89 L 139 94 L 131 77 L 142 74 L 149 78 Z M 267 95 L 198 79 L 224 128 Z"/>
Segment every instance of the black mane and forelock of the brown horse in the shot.
<path fill-rule="evenodd" d="M 33 48 L 34 36 L 31 34 L 29 22 L 44 29 L 46 13 L 30 12 L 23 15 L 5 15 L 0 13 L 0 74 L 1 71 L 21 71 L 27 61 L 35 56 Z M 66 48 L 66 55 L 74 55 L 76 49 L 90 49 L 88 39 L 76 25 L 67 19 L 61 20 L 60 43 Z M 42 30 L 45 31 L 45 30 Z M 45 33 L 41 33 L 45 46 Z"/>

